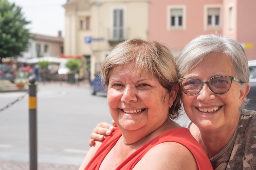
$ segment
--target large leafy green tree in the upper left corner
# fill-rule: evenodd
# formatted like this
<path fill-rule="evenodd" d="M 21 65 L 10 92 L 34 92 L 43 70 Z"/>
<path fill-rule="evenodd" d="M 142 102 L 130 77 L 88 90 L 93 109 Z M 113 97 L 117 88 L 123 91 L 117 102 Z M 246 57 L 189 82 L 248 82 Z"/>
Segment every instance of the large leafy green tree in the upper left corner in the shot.
<path fill-rule="evenodd" d="M 2 58 L 16 57 L 29 48 L 30 22 L 23 17 L 21 7 L 0 0 L 0 63 Z"/>

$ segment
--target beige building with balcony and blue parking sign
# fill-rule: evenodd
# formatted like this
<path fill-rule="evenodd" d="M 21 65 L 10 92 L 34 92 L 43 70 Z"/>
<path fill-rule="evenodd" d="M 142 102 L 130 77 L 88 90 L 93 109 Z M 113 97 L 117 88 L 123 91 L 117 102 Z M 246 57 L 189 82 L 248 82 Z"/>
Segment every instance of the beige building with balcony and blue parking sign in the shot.
<path fill-rule="evenodd" d="M 65 8 L 65 55 L 83 55 L 90 79 L 119 42 L 148 38 L 148 0 L 68 0 Z"/>

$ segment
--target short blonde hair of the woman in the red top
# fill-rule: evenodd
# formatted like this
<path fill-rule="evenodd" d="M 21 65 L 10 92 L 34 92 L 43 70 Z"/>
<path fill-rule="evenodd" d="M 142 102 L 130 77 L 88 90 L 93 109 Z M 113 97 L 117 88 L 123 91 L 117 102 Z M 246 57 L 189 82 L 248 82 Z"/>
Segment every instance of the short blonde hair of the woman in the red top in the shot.
<path fill-rule="evenodd" d="M 134 63 L 137 73 L 146 71 L 150 76 L 159 80 L 159 83 L 168 92 L 177 84 L 177 65 L 171 51 L 156 41 L 132 39 L 118 44 L 105 58 L 101 65 L 101 77 L 105 86 L 109 84 L 109 78 L 113 68 L 127 63 Z M 169 116 L 175 119 L 181 109 L 180 90 L 173 106 L 169 108 Z"/>

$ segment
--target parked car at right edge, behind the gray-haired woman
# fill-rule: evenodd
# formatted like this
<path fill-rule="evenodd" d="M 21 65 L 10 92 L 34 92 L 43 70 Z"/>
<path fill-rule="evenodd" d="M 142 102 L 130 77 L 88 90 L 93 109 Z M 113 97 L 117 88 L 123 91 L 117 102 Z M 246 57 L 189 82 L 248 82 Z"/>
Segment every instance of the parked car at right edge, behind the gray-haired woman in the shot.
<path fill-rule="evenodd" d="M 251 101 L 246 108 L 248 110 L 256 110 L 256 60 L 249 60 L 248 65 L 250 69 L 250 91 L 246 97 Z"/>

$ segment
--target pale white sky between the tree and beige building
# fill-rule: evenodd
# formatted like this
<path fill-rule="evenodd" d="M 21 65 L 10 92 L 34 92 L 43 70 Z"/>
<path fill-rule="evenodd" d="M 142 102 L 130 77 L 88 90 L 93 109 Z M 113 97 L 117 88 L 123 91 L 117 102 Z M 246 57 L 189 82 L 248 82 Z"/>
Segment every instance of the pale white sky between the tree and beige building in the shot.
<path fill-rule="evenodd" d="M 57 37 L 58 31 L 65 35 L 65 9 L 67 0 L 8 0 L 22 7 L 23 16 L 31 24 L 30 33 Z"/>

